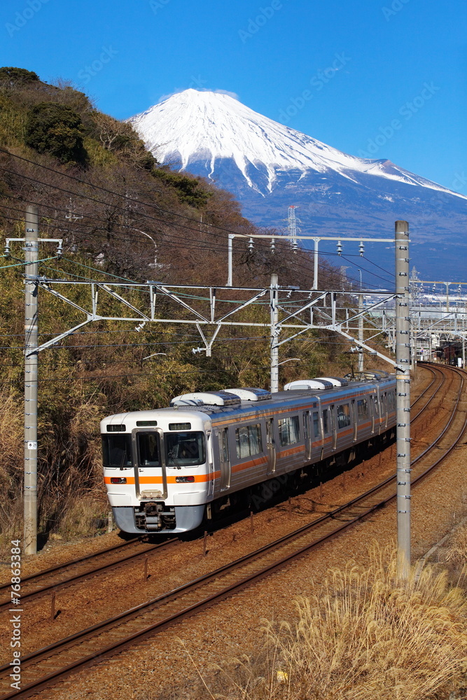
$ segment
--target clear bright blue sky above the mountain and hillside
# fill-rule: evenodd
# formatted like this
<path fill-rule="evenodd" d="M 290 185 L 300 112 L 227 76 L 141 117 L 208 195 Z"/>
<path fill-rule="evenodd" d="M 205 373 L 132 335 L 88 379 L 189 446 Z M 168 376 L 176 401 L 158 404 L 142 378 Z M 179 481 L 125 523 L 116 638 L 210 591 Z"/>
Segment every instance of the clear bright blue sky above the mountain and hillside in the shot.
<path fill-rule="evenodd" d="M 466 0 L 8 0 L 0 64 L 126 118 L 226 90 L 339 148 L 467 195 Z"/>

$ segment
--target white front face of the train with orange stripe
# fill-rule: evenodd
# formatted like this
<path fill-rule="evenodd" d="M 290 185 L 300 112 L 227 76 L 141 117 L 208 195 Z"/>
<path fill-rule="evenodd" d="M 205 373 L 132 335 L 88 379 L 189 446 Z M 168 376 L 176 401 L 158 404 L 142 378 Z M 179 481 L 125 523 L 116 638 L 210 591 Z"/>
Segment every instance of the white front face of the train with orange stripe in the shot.
<path fill-rule="evenodd" d="M 178 533 L 200 525 L 213 490 L 209 416 L 120 413 L 101 421 L 101 434 L 104 482 L 121 530 Z"/>

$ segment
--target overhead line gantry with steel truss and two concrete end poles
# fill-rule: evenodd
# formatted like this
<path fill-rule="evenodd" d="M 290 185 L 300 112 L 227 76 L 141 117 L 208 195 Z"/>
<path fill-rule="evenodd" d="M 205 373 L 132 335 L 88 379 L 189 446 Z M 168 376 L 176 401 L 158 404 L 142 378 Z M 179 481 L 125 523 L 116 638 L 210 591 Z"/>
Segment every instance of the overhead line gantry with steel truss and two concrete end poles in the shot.
<path fill-rule="evenodd" d="M 29 211 L 34 209 L 34 211 Z M 410 563 L 410 294 L 409 294 L 409 233 L 406 221 L 396 222 L 396 235 L 393 239 L 379 240 L 395 244 L 396 252 L 396 291 L 378 291 L 377 300 L 363 308 L 359 300 L 358 311 L 337 300 L 348 297 L 345 290 L 318 290 L 317 272 L 314 276 L 312 289 L 281 287 L 277 275 L 273 274 L 269 286 L 262 287 L 233 287 L 231 279 L 226 286 L 203 286 L 189 284 L 167 284 L 162 281 L 147 281 L 136 283 L 132 281 L 76 281 L 69 279 L 49 279 L 39 276 L 36 268 L 39 262 L 38 245 L 39 216 L 36 207 L 29 208 L 26 217 L 26 257 L 25 263 L 29 269 L 25 276 L 27 288 L 25 314 L 25 398 L 32 398 L 37 406 L 37 361 L 39 353 L 55 346 L 62 339 L 94 321 L 146 323 L 171 323 L 195 325 L 204 343 L 207 356 L 211 355 L 212 346 L 221 328 L 228 326 L 244 326 L 264 328 L 270 335 L 270 366 L 271 391 L 279 390 L 279 347 L 292 339 L 305 334 L 307 331 L 333 331 L 356 346 L 360 351 L 367 351 L 388 362 L 396 370 L 396 412 L 398 441 L 398 562 L 401 577 L 407 578 Z M 302 238 L 302 237 L 300 237 Z M 323 237 L 323 239 L 333 239 Z M 320 237 L 321 239 L 321 237 Z M 358 237 L 354 240 L 364 241 Z M 232 239 L 229 237 L 230 254 Z M 231 260 L 231 257 L 230 257 Z M 317 265 L 317 248 L 314 258 Z M 231 269 L 231 268 L 230 268 Z M 316 271 L 316 267 L 315 267 Z M 79 303 L 71 289 L 87 290 L 87 299 L 79 295 Z M 51 337 L 48 341 L 38 342 L 39 307 L 37 305 L 39 289 L 69 304 L 83 314 L 83 321 L 72 328 L 64 330 Z M 372 294 L 365 291 L 365 295 Z M 126 311 L 126 315 L 109 315 L 102 309 L 103 297 L 118 302 Z M 163 300 L 163 304 L 159 304 Z M 174 304 L 176 313 L 168 316 L 165 313 L 167 300 Z M 388 301 L 396 304 L 396 360 L 375 350 L 363 339 L 361 319 Z M 32 304 L 28 308 L 28 304 Z M 246 309 L 256 307 L 263 309 L 259 321 L 251 321 L 242 316 Z M 101 311 L 102 309 L 102 311 Z M 183 310 L 183 314 L 181 311 Z M 269 314 L 267 314 L 269 310 Z M 31 311 L 34 313 L 31 314 Z M 345 311 L 345 313 L 344 313 Z M 351 332 L 356 323 L 355 334 Z M 371 321 L 370 332 L 374 332 L 375 323 Z M 374 335 L 384 332 L 378 330 Z M 33 366 L 34 365 L 34 366 Z M 407 409 L 408 406 L 408 409 Z M 37 549 L 37 442 L 31 440 L 36 435 L 37 412 L 27 409 L 25 403 L 25 486 L 30 485 L 30 491 L 25 498 L 25 554 L 35 554 Z M 32 444 L 34 442 L 34 445 Z M 30 450 L 34 450 L 31 458 Z"/>

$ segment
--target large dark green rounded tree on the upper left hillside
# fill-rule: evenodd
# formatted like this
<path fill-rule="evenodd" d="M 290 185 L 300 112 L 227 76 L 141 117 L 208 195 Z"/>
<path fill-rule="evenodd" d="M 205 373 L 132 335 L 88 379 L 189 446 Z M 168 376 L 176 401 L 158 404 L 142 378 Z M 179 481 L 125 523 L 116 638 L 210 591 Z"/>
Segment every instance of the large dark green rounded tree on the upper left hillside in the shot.
<path fill-rule="evenodd" d="M 39 102 L 29 110 L 25 143 L 39 153 L 50 153 L 62 163 L 86 165 L 81 117 L 57 102 Z"/>

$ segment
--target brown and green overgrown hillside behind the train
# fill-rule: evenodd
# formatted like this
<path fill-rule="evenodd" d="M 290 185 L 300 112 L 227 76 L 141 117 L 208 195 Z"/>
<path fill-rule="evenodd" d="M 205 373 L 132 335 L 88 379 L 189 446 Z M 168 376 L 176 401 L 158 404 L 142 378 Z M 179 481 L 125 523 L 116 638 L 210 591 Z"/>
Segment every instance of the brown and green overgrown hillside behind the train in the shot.
<path fill-rule="evenodd" d="M 161 167 L 132 127 L 99 112 L 71 85 L 48 85 L 24 69 L 0 69 L 0 227 L 3 239 L 24 235 L 24 211 L 36 204 L 41 237 L 40 274 L 50 278 L 223 285 L 228 232 L 258 229 L 240 214 L 232 195 L 201 177 Z M 0 267 L 0 528 L 8 539 L 21 530 L 24 297 L 23 252 L 13 243 Z M 156 258 L 156 260 L 155 260 Z M 277 241 L 248 248 L 235 241 L 235 283 L 309 287 L 307 253 L 294 255 Z M 335 286 L 337 272 L 323 265 Z M 340 281 L 342 284 L 342 281 Z M 85 288 L 75 288 L 76 301 Z M 109 300 L 109 315 L 118 315 Z M 267 302 L 251 309 L 268 318 Z M 40 339 L 83 320 L 74 307 L 39 293 Z M 281 358 L 281 382 L 303 374 L 338 371 L 344 346 L 298 339 Z M 106 323 L 86 326 L 39 356 L 39 500 L 43 537 L 94 533 L 108 508 L 102 489 L 99 419 L 118 410 L 159 407 L 184 391 L 224 386 L 267 386 L 269 338 L 264 330 L 221 332 L 213 356 L 193 354 L 193 326 Z M 146 360 L 153 353 L 163 353 Z"/>

